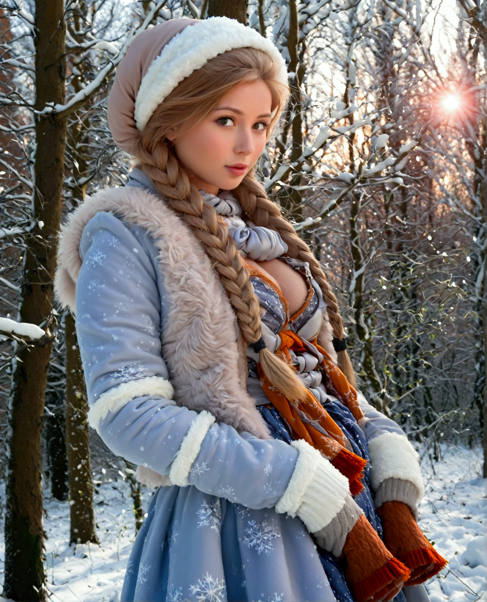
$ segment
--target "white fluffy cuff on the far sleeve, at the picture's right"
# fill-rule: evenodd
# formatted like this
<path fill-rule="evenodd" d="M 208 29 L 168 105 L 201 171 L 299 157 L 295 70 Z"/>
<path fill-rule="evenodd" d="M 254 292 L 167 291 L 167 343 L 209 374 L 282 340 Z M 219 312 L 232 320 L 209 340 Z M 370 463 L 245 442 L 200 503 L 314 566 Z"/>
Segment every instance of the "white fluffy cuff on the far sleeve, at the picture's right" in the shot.
<path fill-rule="evenodd" d="M 383 433 L 368 441 L 368 453 L 374 491 L 386 479 L 403 479 L 415 485 L 418 501 L 423 498 L 424 485 L 418 455 L 405 435 Z"/>

